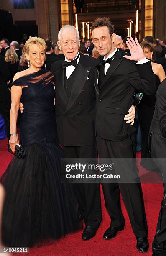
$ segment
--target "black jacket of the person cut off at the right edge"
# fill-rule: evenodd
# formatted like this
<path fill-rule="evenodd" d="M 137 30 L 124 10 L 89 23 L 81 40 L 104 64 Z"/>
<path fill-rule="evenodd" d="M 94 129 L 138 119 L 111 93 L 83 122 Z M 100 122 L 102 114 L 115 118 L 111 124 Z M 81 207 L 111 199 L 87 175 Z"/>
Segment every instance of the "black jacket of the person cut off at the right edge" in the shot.
<path fill-rule="evenodd" d="M 156 105 L 151 122 L 151 131 L 151 156 L 153 158 L 166 158 L 166 79 L 159 85 L 156 92 Z"/>

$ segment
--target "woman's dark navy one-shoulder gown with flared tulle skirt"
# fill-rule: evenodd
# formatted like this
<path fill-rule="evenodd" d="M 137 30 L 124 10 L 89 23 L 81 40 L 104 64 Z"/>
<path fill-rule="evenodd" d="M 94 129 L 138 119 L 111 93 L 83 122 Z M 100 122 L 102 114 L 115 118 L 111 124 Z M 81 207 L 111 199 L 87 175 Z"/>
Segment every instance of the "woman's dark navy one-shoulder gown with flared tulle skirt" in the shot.
<path fill-rule="evenodd" d="M 14 156 L 1 182 L 6 189 L 2 239 L 6 246 L 31 247 L 82 228 L 70 184 L 61 183 L 63 150 L 54 114 L 53 74 L 41 69 L 13 82 L 22 90 L 24 111 L 20 144 L 24 159 Z"/>

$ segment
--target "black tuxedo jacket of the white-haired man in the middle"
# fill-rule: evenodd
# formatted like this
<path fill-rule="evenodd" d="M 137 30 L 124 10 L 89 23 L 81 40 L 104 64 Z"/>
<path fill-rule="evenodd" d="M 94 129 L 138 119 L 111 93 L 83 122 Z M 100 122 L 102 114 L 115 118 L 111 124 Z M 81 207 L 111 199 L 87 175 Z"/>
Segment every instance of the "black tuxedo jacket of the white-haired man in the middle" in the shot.
<path fill-rule="evenodd" d="M 85 146 L 94 143 L 95 103 L 100 60 L 80 54 L 77 72 L 68 99 L 64 89 L 63 60 L 52 64 L 56 87 L 56 122 L 59 142 L 63 146 Z"/>

